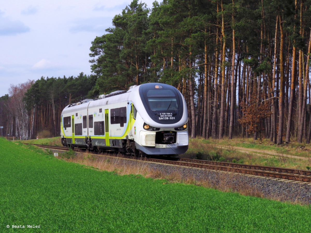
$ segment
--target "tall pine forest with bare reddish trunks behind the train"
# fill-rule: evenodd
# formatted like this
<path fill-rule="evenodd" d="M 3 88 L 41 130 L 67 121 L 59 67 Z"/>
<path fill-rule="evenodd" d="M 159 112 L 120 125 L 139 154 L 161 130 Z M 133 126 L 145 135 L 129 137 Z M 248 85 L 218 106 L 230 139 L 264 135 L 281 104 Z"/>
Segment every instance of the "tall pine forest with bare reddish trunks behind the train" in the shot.
<path fill-rule="evenodd" d="M 147 8 L 134 0 L 90 44 L 91 75 L 41 77 L 0 97 L 3 135 L 58 136 L 68 104 L 159 82 L 185 97 L 191 138 L 310 143 L 310 6 L 164 0 Z"/>

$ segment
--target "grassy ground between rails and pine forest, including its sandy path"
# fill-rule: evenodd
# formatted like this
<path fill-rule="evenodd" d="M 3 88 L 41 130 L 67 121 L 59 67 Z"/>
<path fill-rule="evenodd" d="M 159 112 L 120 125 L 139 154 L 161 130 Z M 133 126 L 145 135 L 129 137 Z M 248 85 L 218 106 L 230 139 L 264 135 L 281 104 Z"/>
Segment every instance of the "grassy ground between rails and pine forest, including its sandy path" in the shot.
<path fill-rule="evenodd" d="M 61 146 L 60 137 L 32 139 L 22 141 L 31 144 Z M 256 164 L 272 167 L 287 167 L 296 169 L 311 169 L 311 146 L 309 144 L 275 145 L 269 139 L 254 141 L 252 138 L 203 139 L 189 140 L 189 149 L 179 155 L 183 158 L 196 158 Z"/>

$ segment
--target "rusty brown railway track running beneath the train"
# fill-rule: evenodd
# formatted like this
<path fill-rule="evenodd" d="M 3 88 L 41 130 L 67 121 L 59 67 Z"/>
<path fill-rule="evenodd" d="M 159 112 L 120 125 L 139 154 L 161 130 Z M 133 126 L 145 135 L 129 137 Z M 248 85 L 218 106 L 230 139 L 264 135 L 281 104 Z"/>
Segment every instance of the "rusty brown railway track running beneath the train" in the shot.
<path fill-rule="evenodd" d="M 41 148 L 50 148 L 57 150 L 68 151 L 67 147 L 63 146 L 50 146 L 50 145 L 39 145 L 32 144 Z M 83 152 L 80 148 L 74 149 L 77 152 Z M 88 151 L 88 153 L 100 154 L 96 152 Z M 230 163 L 230 162 L 216 162 L 216 161 L 208 161 L 208 160 L 199 160 L 199 159 L 188 159 L 188 158 L 170 158 L 167 159 L 159 159 L 158 158 L 138 158 L 128 155 L 114 155 L 110 154 L 109 156 L 118 156 L 121 158 L 130 158 L 137 159 L 149 162 L 159 162 L 166 164 L 173 164 L 178 166 L 187 166 L 187 167 L 197 167 L 197 168 L 205 168 L 216 171 L 226 171 L 226 172 L 235 172 L 241 174 L 249 174 L 254 176 L 266 176 L 271 178 L 279 178 L 284 180 L 294 180 L 294 181 L 302 181 L 302 182 L 311 182 L 311 171 L 299 170 L 294 168 L 283 168 L 283 167 L 269 167 L 269 166 L 258 166 L 258 165 L 247 165 L 247 164 L 239 164 L 239 163 Z M 163 158 L 163 157 L 160 157 Z"/>

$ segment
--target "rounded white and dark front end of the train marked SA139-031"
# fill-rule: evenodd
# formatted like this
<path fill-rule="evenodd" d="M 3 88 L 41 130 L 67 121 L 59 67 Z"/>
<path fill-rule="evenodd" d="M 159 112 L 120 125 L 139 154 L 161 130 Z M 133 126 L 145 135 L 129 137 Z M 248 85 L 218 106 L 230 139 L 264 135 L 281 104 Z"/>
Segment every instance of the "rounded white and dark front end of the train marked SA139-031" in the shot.
<path fill-rule="evenodd" d="M 136 148 L 146 154 L 185 153 L 188 111 L 183 95 L 167 84 L 148 83 L 134 89 L 131 96 L 137 109 L 133 124 Z"/>

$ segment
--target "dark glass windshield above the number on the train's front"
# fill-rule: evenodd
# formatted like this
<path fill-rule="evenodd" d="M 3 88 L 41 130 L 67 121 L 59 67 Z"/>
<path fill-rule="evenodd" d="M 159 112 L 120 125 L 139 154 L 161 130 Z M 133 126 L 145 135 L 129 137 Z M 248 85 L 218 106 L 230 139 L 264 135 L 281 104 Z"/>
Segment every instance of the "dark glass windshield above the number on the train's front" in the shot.
<path fill-rule="evenodd" d="M 172 90 L 147 90 L 149 107 L 153 111 L 178 110 L 178 102 Z"/>

